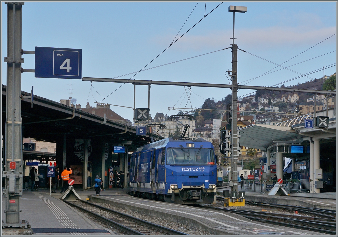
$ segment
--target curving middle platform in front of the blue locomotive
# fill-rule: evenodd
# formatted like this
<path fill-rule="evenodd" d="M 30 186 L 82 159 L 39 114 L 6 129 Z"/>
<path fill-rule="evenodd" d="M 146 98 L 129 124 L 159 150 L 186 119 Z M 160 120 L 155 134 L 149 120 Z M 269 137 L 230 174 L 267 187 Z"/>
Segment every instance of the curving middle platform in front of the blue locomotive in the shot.
<path fill-rule="evenodd" d="M 134 210 L 144 215 L 172 220 L 213 235 L 324 235 L 317 232 L 251 221 L 234 213 L 121 196 L 90 196 L 90 200 Z M 196 231 L 198 235 L 198 230 Z"/>

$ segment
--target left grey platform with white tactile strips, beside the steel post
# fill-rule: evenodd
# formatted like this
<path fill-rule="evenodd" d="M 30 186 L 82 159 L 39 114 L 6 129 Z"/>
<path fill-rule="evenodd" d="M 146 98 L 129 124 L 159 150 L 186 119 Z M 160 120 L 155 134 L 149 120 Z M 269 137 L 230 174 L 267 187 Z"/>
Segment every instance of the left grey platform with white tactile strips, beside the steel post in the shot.
<path fill-rule="evenodd" d="M 4 207 L 3 198 L 2 220 L 5 219 Z M 42 192 L 24 190 L 20 198 L 20 209 L 22 210 L 20 220 L 25 219 L 30 223 L 34 235 L 105 236 L 113 234 L 61 200 L 49 196 L 47 189 L 42 189 Z"/>

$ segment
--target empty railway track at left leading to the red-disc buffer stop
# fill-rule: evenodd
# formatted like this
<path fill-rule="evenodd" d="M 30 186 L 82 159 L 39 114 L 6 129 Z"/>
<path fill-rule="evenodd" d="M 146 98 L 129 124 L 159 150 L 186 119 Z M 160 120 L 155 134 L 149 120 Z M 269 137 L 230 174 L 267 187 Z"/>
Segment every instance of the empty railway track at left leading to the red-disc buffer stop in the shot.
<path fill-rule="evenodd" d="M 118 211 L 114 211 L 109 208 L 102 207 L 93 203 L 85 202 L 79 200 L 77 204 L 75 202 L 65 201 L 68 205 L 76 207 L 88 214 L 99 218 L 116 228 L 120 229 L 122 232 L 130 235 L 188 235 L 183 232 L 169 229 L 158 224 L 154 224 L 134 216 L 130 216 Z M 100 212 L 98 214 L 97 212 Z"/>

